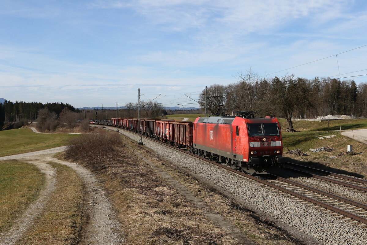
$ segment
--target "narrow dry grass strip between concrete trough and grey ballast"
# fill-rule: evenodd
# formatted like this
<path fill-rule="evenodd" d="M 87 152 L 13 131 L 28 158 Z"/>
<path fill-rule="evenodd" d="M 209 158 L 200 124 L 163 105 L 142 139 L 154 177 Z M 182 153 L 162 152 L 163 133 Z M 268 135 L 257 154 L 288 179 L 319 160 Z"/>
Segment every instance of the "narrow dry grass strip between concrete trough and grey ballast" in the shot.
<path fill-rule="evenodd" d="M 161 159 L 151 151 L 145 150 L 141 153 L 190 191 L 196 193 L 197 197 L 206 202 L 210 208 L 220 213 L 225 220 L 237 226 L 241 232 L 250 237 L 254 242 L 261 245 L 302 244 L 302 242 L 296 241 L 291 235 L 285 234 L 275 227 L 268 218 L 258 217 L 252 211 L 240 208 L 239 205 L 236 205 L 222 194 L 193 178 L 193 176 L 182 171 L 179 167 Z"/>

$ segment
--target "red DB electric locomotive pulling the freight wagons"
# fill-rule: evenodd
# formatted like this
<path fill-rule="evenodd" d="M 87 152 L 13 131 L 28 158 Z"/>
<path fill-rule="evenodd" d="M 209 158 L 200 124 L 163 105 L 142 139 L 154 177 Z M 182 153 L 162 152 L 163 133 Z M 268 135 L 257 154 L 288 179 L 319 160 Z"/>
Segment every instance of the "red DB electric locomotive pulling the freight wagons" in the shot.
<path fill-rule="evenodd" d="M 283 154 L 277 118 L 238 116 L 199 117 L 194 122 L 192 151 L 247 173 L 266 173 Z"/>

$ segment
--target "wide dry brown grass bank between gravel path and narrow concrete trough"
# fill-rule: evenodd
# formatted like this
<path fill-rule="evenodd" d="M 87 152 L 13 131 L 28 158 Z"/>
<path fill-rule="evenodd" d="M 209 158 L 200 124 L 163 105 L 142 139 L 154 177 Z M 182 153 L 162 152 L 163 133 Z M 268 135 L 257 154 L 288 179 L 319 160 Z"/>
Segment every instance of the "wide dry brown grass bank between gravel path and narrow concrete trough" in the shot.
<path fill-rule="evenodd" d="M 89 139 L 86 145 L 93 144 Z M 91 149 L 88 152 L 94 156 L 88 158 L 86 167 L 98 173 L 110 190 L 126 244 L 237 244 L 128 147 L 103 156 Z M 82 159 L 74 153 L 65 156 Z"/>

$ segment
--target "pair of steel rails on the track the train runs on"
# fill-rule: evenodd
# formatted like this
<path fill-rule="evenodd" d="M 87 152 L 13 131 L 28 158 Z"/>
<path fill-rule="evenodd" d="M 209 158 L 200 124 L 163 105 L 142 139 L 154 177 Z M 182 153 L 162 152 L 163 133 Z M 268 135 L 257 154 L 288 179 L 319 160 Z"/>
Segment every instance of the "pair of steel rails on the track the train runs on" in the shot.
<path fill-rule="evenodd" d="M 113 126 L 112 126 L 112 127 L 113 127 Z M 126 131 L 128 131 L 128 132 L 135 133 L 135 132 L 130 131 L 130 130 L 127 130 L 127 129 L 124 129 L 124 130 L 126 130 Z M 340 213 L 341 215 L 344 215 L 344 216 L 349 217 L 349 218 L 351 218 L 351 219 L 357 220 L 357 221 L 359 221 L 359 222 L 361 222 L 361 223 L 367 224 L 367 218 L 364 218 L 364 217 L 361 217 L 361 216 L 355 215 L 354 213 L 351 213 L 351 212 L 345 211 L 345 210 L 343 210 L 343 209 L 340 209 L 340 208 L 337 208 L 337 207 L 331 206 L 331 205 L 329 205 L 329 204 L 325 204 L 325 203 L 323 203 L 323 202 L 317 201 L 317 200 L 312 199 L 312 198 L 310 198 L 310 197 L 306 197 L 306 196 L 301 195 L 301 194 L 299 194 L 299 193 L 296 193 L 296 192 L 294 192 L 294 191 L 291 191 L 291 190 L 288 190 L 288 189 L 286 189 L 286 188 L 283 188 L 283 187 L 277 186 L 276 184 L 270 183 L 270 182 L 268 182 L 268 181 L 266 181 L 266 180 L 259 179 L 259 178 L 255 177 L 255 176 L 249 175 L 249 174 L 247 174 L 247 173 L 242 173 L 242 172 L 237 171 L 237 170 L 235 170 L 235 169 L 233 169 L 233 168 L 230 168 L 230 167 L 228 167 L 228 166 L 226 166 L 226 165 L 220 164 L 220 163 L 218 163 L 218 162 L 210 161 L 210 160 L 208 160 L 208 159 L 206 159 L 206 158 L 203 158 L 203 157 L 197 156 L 197 155 L 195 155 L 195 154 L 193 154 L 193 153 L 190 153 L 190 152 L 188 152 L 188 151 L 186 151 L 186 150 L 182 150 L 182 149 L 179 149 L 179 148 L 177 148 L 177 147 L 174 147 L 174 146 L 168 145 L 168 144 L 166 144 L 166 143 L 164 143 L 164 142 L 161 142 L 161 141 L 159 141 L 159 140 L 155 140 L 155 139 L 153 139 L 153 138 L 149 138 L 149 137 L 146 137 L 146 136 L 143 136 L 143 137 L 144 137 L 144 138 L 147 138 L 147 139 L 150 139 L 150 140 L 154 140 L 154 142 L 161 143 L 162 145 L 165 145 L 165 146 L 167 146 L 167 147 L 170 147 L 171 149 L 174 149 L 174 150 L 177 150 L 177 151 L 180 151 L 180 152 L 183 152 L 183 153 L 189 154 L 190 156 L 193 156 L 193 157 L 199 158 L 200 160 L 206 161 L 206 162 L 208 162 L 208 163 L 210 163 L 210 164 L 213 164 L 213 165 L 216 165 L 216 166 L 218 166 L 218 167 L 224 168 L 224 169 L 226 169 L 226 170 L 228 170 L 228 171 L 230 171 L 230 172 L 233 172 L 233 173 L 235 173 L 235 174 L 237 174 L 237 175 L 241 175 L 241 176 L 244 176 L 244 177 L 246 177 L 246 178 L 249 178 L 249 179 L 255 180 L 255 181 L 257 181 L 257 182 L 260 182 L 260 183 L 262 183 L 262 184 L 265 184 L 266 186 L 270 186 L 270 187 L 272 187 L 272 188 L 274 188 L 274 189 L 277 189 L 277 190 L 282 191 L 282 192 L 284 192 L 284 193 L 287 193 L 287 194 L 290 194 L 290 195 L 292 195 L 292 196 L 295 196 L 295 197 L 301 198 L 301 199 L 303 199 L 303 200 L 305 200 L 305 201 L 308 201 L 308 202 L 310 202 L 310 203 L 313 203 L 313 204 L 315 204 L 315 205 L 317 205 L 317 206 L 321 206 L 321 207 L 323 207 L 323 208 L 329 209 L 329 210 L 334 211 L 334 212 L 336 212 L 336 213 Z M 297 186 L 297 187 L 301 187 L 301 188 L 303 188 L 303 189 L 310 190 L 310 191 L 313 191 L 313 192 L 315 192 L 315 193 L 319 193 L 319 194 L 321 194 L 321 195 L 325 195 L 325 196 L 328 196 L 328 197 L 332 197 L 332 198 L 334 198 L 334 199 L 337 199 L 337 200 L 343 201 L 343 202 L 348 203 L 348 204 L 351 204 L 351 205 L 359 206 L 360 208 L 364 208 L 364 209 L 366 209 L 366 210 L 367 210 L 367 205 L 366 205 L 366 204 L 363 204 L 363 203 L 360 203 L 360 202 L 356 202 L 356 201 L 350 200 L 350 199 L 348 199 L 348 198 L 340 197 L 340 196 L 338 196 L 338 195 L 334 195 L 334 194 L 332 194 L 332 193 L 328 193 L 328 192 L 326 192 L 326 191 L 322 191 L 322 190 L 319 190 L 319 189 L 316 189 L 316 188 L 313 188 L 313 187 L 310 187 L 310 186 L 306 186 L 306 185 L 304 185 L 304 184 L 301 184 L 301 183 L 298 183 L 298 182 L 294 182 L 294 181 L 292 181 L 292 180 L 284 179 L 284 178 L 281 178 L 280 176 L 276 176 L 276 175 L 273 175 L 273 176 L 274 176 L 276 179 L 279 179 L 279 180 L 281 180 L 281 181 L 287 182 L 287 183 L 289 183 L 289 184 L 293 184 L 293 185 L 295 185 L 295 186 Z"/>

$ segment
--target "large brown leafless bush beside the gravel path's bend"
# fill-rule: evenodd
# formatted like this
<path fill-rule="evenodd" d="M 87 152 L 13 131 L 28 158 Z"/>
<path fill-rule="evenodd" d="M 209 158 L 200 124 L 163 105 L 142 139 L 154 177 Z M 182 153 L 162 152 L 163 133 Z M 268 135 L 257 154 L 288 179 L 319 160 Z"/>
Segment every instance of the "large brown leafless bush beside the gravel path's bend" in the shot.
<path fill-rule="evenodd" d="M 116 156 L 117 147 L 123 146 L 117 133 L 103 132 L 71 138 L 66 146 L 65 157 L 83 162 L 96 162 L 107 156 Z"/>

